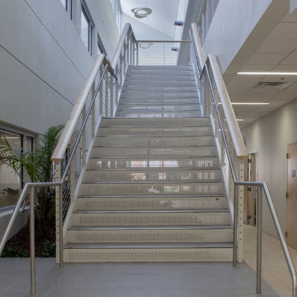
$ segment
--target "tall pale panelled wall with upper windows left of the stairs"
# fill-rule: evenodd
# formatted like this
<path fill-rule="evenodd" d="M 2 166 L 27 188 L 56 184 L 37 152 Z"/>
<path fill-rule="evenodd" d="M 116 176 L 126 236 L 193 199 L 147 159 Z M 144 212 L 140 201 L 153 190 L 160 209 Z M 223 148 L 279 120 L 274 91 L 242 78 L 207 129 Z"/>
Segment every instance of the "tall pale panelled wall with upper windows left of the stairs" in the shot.
<path fill-rule="evenodd" d="M 85 2 L 112 59 L 119 33 L 110 0 Z M 60 0 L 0 1 L 2 124 L 42 133 L 68 119 L 95 57 L 81 40 L 79 8 L 74 0 L 71 21 Z"/>

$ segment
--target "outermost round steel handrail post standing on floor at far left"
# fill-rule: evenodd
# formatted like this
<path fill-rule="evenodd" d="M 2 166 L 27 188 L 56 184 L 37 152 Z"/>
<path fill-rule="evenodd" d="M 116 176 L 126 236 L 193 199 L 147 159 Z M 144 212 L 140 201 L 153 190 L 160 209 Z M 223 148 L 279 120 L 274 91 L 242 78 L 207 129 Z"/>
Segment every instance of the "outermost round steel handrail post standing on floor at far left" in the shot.
<path fill-rule="evenodd" d="M 35 201 L 34 187 L 30 189 L 30 279 L 31 294 L 35 294 Z"/>

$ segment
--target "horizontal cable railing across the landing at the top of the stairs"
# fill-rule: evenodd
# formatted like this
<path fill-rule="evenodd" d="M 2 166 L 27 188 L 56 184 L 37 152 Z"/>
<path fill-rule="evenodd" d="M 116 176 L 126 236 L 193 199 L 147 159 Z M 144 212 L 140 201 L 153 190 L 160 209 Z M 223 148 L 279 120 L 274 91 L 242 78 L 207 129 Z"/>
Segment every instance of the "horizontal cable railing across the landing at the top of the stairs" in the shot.
<path fill-rule="evenodd" d="M 188 40 L 137 40 L 139 66 L 190 65 L 180 58 L 180 52 L 190 49 Z"/>

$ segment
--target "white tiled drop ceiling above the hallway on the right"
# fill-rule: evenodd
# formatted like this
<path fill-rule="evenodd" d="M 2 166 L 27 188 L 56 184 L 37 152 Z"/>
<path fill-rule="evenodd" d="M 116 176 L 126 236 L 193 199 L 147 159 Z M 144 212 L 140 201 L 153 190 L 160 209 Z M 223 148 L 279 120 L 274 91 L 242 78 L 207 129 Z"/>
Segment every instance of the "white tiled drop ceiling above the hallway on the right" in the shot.
<path fill-rule="evenodd" d="M 297 72 L 297 11 L 286 15 L 262 42 L 240 71 Z M 292 83 L 287 88 L 256 88 L 260 82 Z M 260 76 L 237 74 L 228 83 L 232 102 L 269 103 L 269 105 L 233 105 L 243 127 L 297 98 L 297 76 Z"/>

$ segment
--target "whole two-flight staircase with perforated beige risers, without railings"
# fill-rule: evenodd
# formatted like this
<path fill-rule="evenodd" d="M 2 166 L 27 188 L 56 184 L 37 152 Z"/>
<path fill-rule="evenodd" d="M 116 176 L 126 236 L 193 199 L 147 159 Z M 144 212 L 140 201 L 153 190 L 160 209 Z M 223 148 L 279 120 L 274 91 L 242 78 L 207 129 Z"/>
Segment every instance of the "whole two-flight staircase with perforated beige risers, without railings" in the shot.
<path fill-rule="evenodd" d="M 231 261 L 222 178 L 192 66 L 129 66 L 115 118 L 100 122 L 64 261 Z"/>

